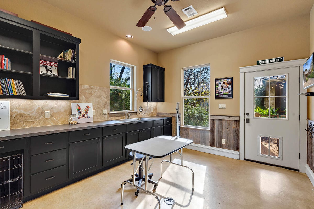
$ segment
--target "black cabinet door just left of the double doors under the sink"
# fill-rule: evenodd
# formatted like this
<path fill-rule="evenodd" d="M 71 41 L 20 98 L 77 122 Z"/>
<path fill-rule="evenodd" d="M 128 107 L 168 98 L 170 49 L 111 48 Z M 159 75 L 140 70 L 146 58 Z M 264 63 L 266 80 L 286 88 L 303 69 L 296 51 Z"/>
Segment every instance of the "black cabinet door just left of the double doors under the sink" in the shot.
<path fill-rule="evenodd" d="M 103 166 L 108 166 L 125 159 L 125 133 L 103 137 Z"/>

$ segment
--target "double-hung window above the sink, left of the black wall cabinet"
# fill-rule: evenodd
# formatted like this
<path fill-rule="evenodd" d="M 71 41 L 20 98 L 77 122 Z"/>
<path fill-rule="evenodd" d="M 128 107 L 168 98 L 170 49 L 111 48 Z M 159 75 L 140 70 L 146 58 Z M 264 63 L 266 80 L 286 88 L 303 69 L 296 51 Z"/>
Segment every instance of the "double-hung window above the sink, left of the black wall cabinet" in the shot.
<path fill-rule="evenodd" d="M 132 110 L 133 66 L 110 61 L 110 111 Z"/>

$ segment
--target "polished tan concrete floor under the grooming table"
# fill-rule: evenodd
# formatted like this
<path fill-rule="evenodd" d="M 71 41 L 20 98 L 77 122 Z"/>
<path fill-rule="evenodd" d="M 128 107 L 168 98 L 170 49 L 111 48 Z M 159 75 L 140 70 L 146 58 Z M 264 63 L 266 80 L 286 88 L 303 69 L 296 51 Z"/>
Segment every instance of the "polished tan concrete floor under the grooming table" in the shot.
<path fill-rule="evenodd" d="M 173 159 L 179 162 L 179 154 L 173 154 Z M 155 193 L 162 209 L 314 208 L 314 188 L 305 174 L 296 171 L 184 149 L 183 165 L 195 174 L 192 192 L 192 175 L 186 168 L 164 163 L 163 178 L 159 178 L 161 160 L 154 160 L 151 171 L 153 180 L 159 181 Z M 23 209 L 158 208 L 154 196 L 142 191 L 135 197 L 136 189 L 129 184 L 120 206 L 120 185 L 130 178 L 130 162 L 28 201 Z M 176 204 L 165 204 L 165 197 L 173 197 Z"/>

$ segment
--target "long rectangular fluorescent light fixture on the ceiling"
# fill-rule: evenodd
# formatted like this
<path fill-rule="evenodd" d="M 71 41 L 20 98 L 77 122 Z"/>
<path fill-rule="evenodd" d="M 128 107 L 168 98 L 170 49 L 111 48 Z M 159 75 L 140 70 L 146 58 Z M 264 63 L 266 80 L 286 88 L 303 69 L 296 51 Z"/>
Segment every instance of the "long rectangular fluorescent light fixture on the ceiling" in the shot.
<path fill-rule="evenodd" d="M 167 31 L 169 33 L 171 33 L 172 35 L 181 34 L 181 33 L 185 32 L 185 31 L 188 31 L 188 30 L 191 30 L 191 29 L 194 29 L 194 28 L 206 25 L 208 23 L 215 22 L 217 20 L 220 20 L 220 19 L 223 19 L 223 18 L 226 18 L 226 17 L 228 17 L 228 15 L 227 15 L 227 12 L 226 12 L 225 8 L 223 7 L 221 9 L 217 9 L 217 10 L 215 10 L 213 12 L 204 14 L 202 16 L 199 16 L 197 18 L 194 18 L 192 20 L 189 20 L 189 21 L 185 22 L 186 26 L 184 28 L 180 29 L 180 30 L 177 29 L 176 26 L 174 26 L 172 28 L 167 29 Z"/>

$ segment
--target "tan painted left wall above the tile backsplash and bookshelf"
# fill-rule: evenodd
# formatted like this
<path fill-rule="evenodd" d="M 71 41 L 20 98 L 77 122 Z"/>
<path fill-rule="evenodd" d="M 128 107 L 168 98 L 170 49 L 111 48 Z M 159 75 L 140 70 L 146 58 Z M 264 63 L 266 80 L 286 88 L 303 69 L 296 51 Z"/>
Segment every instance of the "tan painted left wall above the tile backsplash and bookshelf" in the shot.
<path fill-rule="evenodd" d="M 35 20 L 80 38 L 79 82 L 82 85 L 109 87 L 109 60 L 114 59 L 136 65 L 137 85 L 143 86 L 142 66 L 157 63 L 156 53 L 43 1 L 1 1 L 0 7 L 17 13 L 20 18 Z"/>

